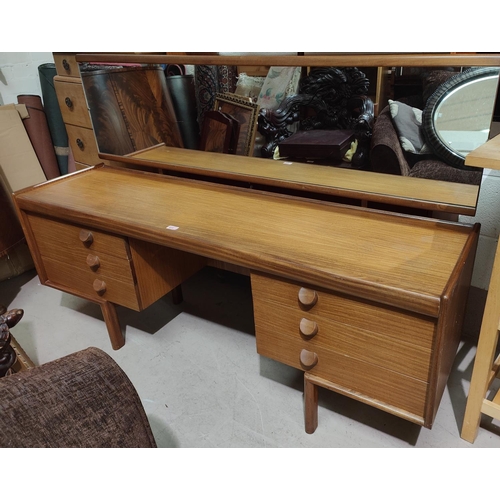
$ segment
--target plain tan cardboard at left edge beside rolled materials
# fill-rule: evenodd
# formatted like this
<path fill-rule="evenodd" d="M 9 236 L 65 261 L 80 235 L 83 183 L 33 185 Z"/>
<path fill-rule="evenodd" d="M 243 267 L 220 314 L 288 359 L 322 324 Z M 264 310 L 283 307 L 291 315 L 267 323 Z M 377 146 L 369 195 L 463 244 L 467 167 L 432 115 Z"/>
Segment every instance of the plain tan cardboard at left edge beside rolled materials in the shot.
<path fill-rule="evenodd" d="M 22 122 L 24 104 L 0 106 L 0 182 L 8 193 L 47 180 Z"/>

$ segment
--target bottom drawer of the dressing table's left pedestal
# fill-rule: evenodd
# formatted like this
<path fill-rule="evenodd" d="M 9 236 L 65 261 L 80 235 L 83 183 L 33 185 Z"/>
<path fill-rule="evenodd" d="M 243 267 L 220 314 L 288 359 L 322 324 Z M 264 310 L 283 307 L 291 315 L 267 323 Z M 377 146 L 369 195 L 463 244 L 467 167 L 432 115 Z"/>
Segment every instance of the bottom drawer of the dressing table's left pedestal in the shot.
<path fill-rule="evenodd" d="M 129 267 L 128 275 L 116 279 L 101 274 L 93 273 L 84 265 L 70 265 L 61 260 L 54 260 L 42 256 L 48 280 L 54 285 L 62 285 L 79 295 L 90 299 L 105 299 L 134 311 L 140 311 L 136 286 Z"/>

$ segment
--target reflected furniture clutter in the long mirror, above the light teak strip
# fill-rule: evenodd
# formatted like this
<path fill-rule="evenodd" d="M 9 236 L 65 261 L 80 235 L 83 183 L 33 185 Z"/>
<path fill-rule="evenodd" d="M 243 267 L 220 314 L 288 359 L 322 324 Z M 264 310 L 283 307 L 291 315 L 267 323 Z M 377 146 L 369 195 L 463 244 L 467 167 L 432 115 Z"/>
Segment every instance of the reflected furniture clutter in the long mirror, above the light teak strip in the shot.
<path fill-rule="evenodd" d="M 406 68 L 390 68 L 389 81 L 387 72 L 377 68 L 270 67 L 252 74 L 251 68 L 168 66 L 82 64 L 101 153 L 132 155 L 163 144 L 270 161 L 481 182 L 480 169 L 457 169 L 454 158 L 443 156 L 436 144 L 456 146 L 463 164 L 465 154 L 488 139 L 498 71 L 496 77 L 464 84 L 439 102 L 432 101 L 437 139 L 426 140 L 426 104 L 436 89 L 468 68 L 419 68 L 411 87 L 403 82 Z M 398 85 L 406 85 L 409 95 L 398 95 Z M 465 105 L 467 88 L 475 96 L 474 111 Z M 402 122 L 405 116 L 414 122 L 413 130 Z M 347 130 L 351 135 L 338 139 L 325 130 Z"/>

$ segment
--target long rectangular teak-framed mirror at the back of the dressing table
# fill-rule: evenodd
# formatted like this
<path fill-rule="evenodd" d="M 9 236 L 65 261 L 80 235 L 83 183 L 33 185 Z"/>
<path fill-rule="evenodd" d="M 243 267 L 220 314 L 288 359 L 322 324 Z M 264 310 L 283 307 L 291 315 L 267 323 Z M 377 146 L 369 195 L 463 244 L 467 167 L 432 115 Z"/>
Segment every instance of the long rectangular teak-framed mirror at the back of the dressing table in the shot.
<path fill-rule="evenodd" d="M 422 111 L 448 78 L 500 65 L 497 56 L 76 58 L 101 158 L 473 214 L 482 171 L 457 169 L 422 149 Z M 415 127 L 410 148 L 405 116 Z M 331 130 L 347 133 L 324 133 Z M 394 175 L 381 180 L 381 173 Z M 410 184 L 415 179 L 446 184 Z"/>

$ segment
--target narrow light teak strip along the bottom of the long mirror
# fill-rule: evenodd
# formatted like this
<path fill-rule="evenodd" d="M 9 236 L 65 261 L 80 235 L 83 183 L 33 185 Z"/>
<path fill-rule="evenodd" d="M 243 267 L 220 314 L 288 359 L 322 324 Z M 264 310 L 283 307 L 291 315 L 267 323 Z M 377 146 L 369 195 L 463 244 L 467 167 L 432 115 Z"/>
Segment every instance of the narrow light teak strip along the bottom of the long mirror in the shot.
<path fill-rule="evenodd" d="M 165 145 L 128 157 L 100 156 L 124 164 L 463 215 L 475 214 L 479 194 L 478 186 L 469 184 L 223 155 Z"/>

